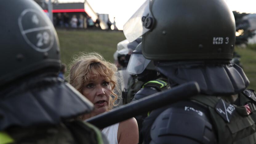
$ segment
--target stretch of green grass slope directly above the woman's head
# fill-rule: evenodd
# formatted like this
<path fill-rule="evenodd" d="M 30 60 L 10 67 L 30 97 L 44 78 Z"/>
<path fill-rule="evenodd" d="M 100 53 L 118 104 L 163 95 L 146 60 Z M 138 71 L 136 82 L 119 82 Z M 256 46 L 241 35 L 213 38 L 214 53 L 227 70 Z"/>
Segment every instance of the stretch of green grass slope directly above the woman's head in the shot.
<path fill-rule="evenodd" d="M 122 31 L 58 29 L 57 33 L 61 47 L 61 61 L 66 65 L 70 63 L 74 54 L 93 51 L 113 62 L 117 43 L 126 39 Z"/>

